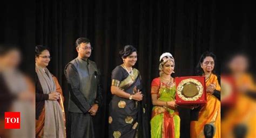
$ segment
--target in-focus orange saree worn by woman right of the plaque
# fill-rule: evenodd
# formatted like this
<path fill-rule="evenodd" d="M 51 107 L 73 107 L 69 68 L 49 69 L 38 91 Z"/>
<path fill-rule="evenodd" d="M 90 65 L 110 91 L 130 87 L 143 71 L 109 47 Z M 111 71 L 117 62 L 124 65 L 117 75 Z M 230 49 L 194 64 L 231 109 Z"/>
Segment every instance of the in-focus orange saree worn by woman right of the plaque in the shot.
<path fill-rule="evenodd" d="M 216 75 L 211 74 L 206 79 L 206 87 L 210 84 L 216 84 L 215 90 L 220 91 L 220 85 Z M 213 124 L 215 126 L 214 138 L 220 138 L 220 101 L 211 93 L 207 92 L 207 103 L 199 112 L 198 121 L 191 121 L 190 136 L 191 138 L 204 138 L 204 126 Z"/>

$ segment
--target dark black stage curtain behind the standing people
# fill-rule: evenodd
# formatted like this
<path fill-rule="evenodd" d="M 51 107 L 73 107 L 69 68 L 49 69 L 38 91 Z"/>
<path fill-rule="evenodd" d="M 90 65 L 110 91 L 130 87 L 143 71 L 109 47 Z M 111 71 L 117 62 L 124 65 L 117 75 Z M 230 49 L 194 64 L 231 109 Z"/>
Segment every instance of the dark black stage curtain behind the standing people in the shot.
<path fill-rule="evenodd" d="M 246 2 L 203 0 L 163 1 L 6 1 L 1 4 L 1 43 L 14 43 L 24 51 L 23 70 L 34 72 L 36 45 L 50 47 L 49 70 L 63 88 L 68 107 L 65 65 L 77 56 L 75 41 L 91 40 L 91 60 L 102 72 L 104 104 L 95 117 L 97 137 L 107 137 L 111 71 L 122 63 L 118 52 L 130 44 L 138 49 L 136 68 L 147 93 L 151 114 L 150 84 L 158 77 L 159 56 L 173 54 L 174 76 L 193 75 L 200 55 L 206 50 L 217 55 L 215 68 L 235 47 L 255 43 L 255 8 Z M 3 12 L 2 12 L 3 11 Z M 227 47 L 227 48 L 225 48 Z M 30 50 L 29 50 L 30 49 Z M 252 50 L 250 51 L 252 53 Z M 253 57 L 255 59 L 255 56 Z M 28 67 L 27 67 L 28 66 Z M 253 67 L 255 69 L 255 65 Z M 190 137 L 190 118 L 180 110 L 181 138 Z"/>

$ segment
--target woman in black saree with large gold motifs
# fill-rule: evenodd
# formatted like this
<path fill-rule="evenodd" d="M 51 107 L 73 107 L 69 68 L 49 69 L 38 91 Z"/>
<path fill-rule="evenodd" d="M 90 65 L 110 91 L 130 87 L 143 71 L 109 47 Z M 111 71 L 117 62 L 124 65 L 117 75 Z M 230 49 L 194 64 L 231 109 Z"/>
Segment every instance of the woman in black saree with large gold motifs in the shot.
<path fill-rule="evenodd" d="M 139 71 L 132 68 L 137 61 L 137 50 L 127 45 L 119 54 L 124 63 L 112 71 L 109 137 L 146 137 L 141 77 Z"/>

